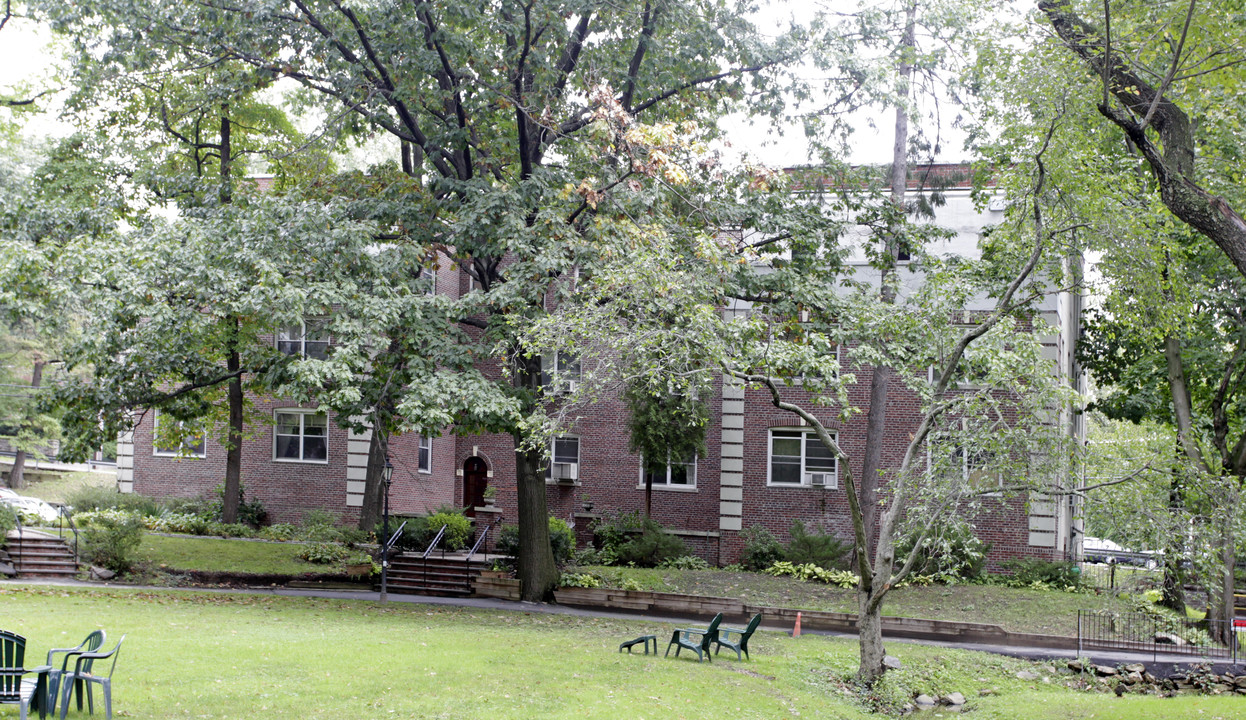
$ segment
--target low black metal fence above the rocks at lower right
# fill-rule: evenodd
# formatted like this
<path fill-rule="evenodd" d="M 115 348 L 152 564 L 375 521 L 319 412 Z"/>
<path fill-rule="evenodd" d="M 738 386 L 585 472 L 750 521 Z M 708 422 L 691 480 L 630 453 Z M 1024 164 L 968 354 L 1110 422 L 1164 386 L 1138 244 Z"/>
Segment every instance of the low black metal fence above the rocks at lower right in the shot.
<path fill-rule="evenodd" d="M 1078 654 L 1085 650 L 1116 650 L 1159 655 L 1190 655 L 1221 663 L 1246 661 L 1241 642 L 1246 628 L 1232 627 L 1232 642 L 1217 643 L 1225 637 L 1224 620 L 1181 620 L 1144 613 L 1109 610 L 1078 610 Z"/>

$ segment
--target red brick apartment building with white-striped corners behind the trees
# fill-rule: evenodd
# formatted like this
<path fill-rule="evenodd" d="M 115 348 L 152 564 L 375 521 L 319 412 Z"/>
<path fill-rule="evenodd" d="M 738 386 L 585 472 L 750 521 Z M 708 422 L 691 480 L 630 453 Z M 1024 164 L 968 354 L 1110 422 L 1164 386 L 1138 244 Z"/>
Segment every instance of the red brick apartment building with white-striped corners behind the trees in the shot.
<path fill-rule="evenodd" d="M 936 243 L 936 254 L 977 254 L 986 225 L 999 222 L 1002 203 L 978 211 L 968 188 L 946 192 L 936 222 L 954 230 Z M 862 260 L 863 265 L 863 260 Z M 918 282 L 905 273 L 903 282 Z M 436 291 L 459 296 L 468 290 L 468 278 L 456 268 L 437 272 Z M 984 310 L 967 308 L 967 310 Z M 1053 372 L 1074 387 L 1082 382 L 1073 360 L 1080 301 L 1073 293 L 1049 296 L 1040 308 L 1035 331 Z M 746 304 L 725 313 L 745 313 Z M 298 343 L 297 329 L 290 338 Z M 280 341 L 280 339 L 278 340 Z M 287 340 L 289 341 L 289 340 Z M 314 348 L 300 348 L 315 351 Z M 841 349 L 845 369 L 856 374 L 851 402 L 865 409 L 870 371 L 855 367 L 851 349 Z M 789 389 L 797 396 L 800 389 Z M 314 409 L 273 399 L 253 399 L 255 412 L 273 422 L 252 427 L 243 443 L 243 483 L 248 498 L 263 501 L 275 522 L 295 521 L 323 508 L 345 521 L 358 518 L 363 504 L 369 436 L 339 427 Z M 726 379 L 715 382 L 709 399 L 709 452 L 687 465 L 668 466 L 655 477 L 652 514 L 679 534 L 693 551 L 711 563 L 735 562 L 743 547 L 740 531 L 764 526 L 786 538 L 792 519 L 827 528 L 851 538 L 847 501 L 834 458 L 806 437 L 792 415 L 770 402 L 768 392 L 746 390 Z M 846 422 L 824 411 L 827 427 L 855 462 L 863 455 L 866 415 Z M 907 438 L 920 417 L 918 400 L 902 384 L 892 382 L 887 407 L 893 442 L 885 442 L 883 467 L 897 467 Z M 1080 436 L 1080 417 L 1060 409 L 1055 419 L 1067 432 Z M 549 513 L 577 527 L 581 538 L 601 514 L 643 511 L 645 483 L 640 458 L 628 450 L 627 410 L 621 399 L 606 399 L 554 441 L 547 481 Z M 226 451 L 212 440 L 196 447 L 153 447 L 155 412 L 118 442 L 117 483 L 122 492 L 157 497 L 201 496 L 224 478 Z M 395 513 L 424 513 L 454 504 L 468 507 L 477 522 L 516 521 L 515 448 L 510 436 L 439 437 L 402 435 L 390 440 L 395 466 L 390 507 Z M 861 467 L 852 468 L 860 476 Z M 496 490 L 496 507 L 483 507 L 485 487 Z M 592 503 L 592 509 L 587 509 Z M 974 518 L 976 529 L 992 546 L 992 564 L 1014 557 L 1063 558 L 1078 542 L 1074 516 L 1067 501 L 1008 498 L 986 507 Z"/>

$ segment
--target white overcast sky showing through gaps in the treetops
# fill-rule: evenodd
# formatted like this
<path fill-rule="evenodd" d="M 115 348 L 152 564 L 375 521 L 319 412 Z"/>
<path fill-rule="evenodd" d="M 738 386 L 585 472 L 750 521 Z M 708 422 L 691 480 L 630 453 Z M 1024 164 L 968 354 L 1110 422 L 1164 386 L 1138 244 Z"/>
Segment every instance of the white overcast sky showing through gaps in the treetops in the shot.
<path fill-rule="evenodd" d="M 811 4 L 807 0 L 791 0 L 791 6 L 797 11 L 807 11 Z M 50 34 L 36 24 L 24 19 L 12 17 L 0 31 L 0 88 L 11 88 L 19 83 L 29 83 L 32 87 L 55 86 L 51 80 L 56 67 L 56 54 L 50 47 Z M 55 108 L 55 103 L 42 102 L 44 107 Z M 854 163 L 886 163 L 891 161 L 891 133 L 892 111 L 887 108 L 873 110 L 861 113 L 860 120 L 854 122 L 855 133 L 852 149 L 849 161 Z M 875 122 L 871 123 L 870 121 Z M 728 117 L 721 121 L 721 127 L 728 132 L 728 140 L 735 152 L 748 153 L 754 159 L 770 167 L 787 167 L 804 164 L 807 162 L 806 146 L 800 128 L 787 128 L 780 136 L 778 128 L 750 123 L 743 117 Z M 872 127 L 876 125 L 877 127 Z M 26 135 L 31 137 L 56 137 L 67 135 L 69 128 L 56 118 L 54 111 L 31 118 L 26 123 Z M 963 136 L 952 132 L 948 137 L 948 128 L 943 130 L 943 152 L 936 158 L 941 162 L 957 162 L 966 158 L 962 148 Z M 364 164 L 380 159 L 376 149 L 361 148 L 355 153 L 355 159 Z M 389 156 L 388 149 L 381 151 Z M 369 157 L 371 156 L 371 157 Z"/>

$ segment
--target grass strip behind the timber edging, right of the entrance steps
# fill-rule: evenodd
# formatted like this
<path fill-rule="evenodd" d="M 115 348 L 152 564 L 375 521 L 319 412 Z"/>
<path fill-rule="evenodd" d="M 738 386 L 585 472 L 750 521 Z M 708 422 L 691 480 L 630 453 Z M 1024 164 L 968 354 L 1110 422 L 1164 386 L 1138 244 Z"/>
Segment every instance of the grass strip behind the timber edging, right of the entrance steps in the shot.
<path fill-rule="evenodd" d="M 579 568 L 604 578 L 612 587 L 632 579 L 640 589 L 739 598 L 775 605 L 835 613 L 856 613 L 855 590 L 804 583 L 764 573 L 672 571 L 616 567 Z M 882 613 L 932 620 L 962 620 L 1001 625 L 1014 633 L 1077 635 L 1079 609 L 1128 610 L 1110 594 L 1064 593 L 1002 585 L 930 585 L 897 588 L 887 594 Z"/>

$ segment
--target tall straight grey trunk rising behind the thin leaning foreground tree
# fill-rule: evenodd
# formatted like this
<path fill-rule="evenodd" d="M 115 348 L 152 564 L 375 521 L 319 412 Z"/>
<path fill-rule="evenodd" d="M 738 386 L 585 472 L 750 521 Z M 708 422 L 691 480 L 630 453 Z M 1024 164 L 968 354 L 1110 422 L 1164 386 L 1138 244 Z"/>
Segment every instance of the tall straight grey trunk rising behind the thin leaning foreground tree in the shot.
<path fill-rule="evenodd" d="M 912 50 L 916 45 L 917 2 L 911 1 L 905 11 L 905 36 L 900 44 L 900 66 L 897 69 L 896 95 L 902 100 L 896 105 L 896 131 L 891 147 L 891 202 L 903 211 L 908 189 L 908 88 L 912 82 Z M 896 260 L 900 248 L 896 228 L 891 228 L 886 238 L 887 260 L 882 268 L 878 300 L 885 305 L 896 304 L 896 289 L 892 284 L 896 275 Z M 865 516 L 866 546 L 856 552 L 873 554 L 878 527 L 878 487 L 882 485 L 882 445 L 887 431 L 887 390 L 891 387 L 891 367 L 880 365 L 870 377 L 870 411 L 866 416 L 865 452 L 861 468 L 861 509 Z"/>

